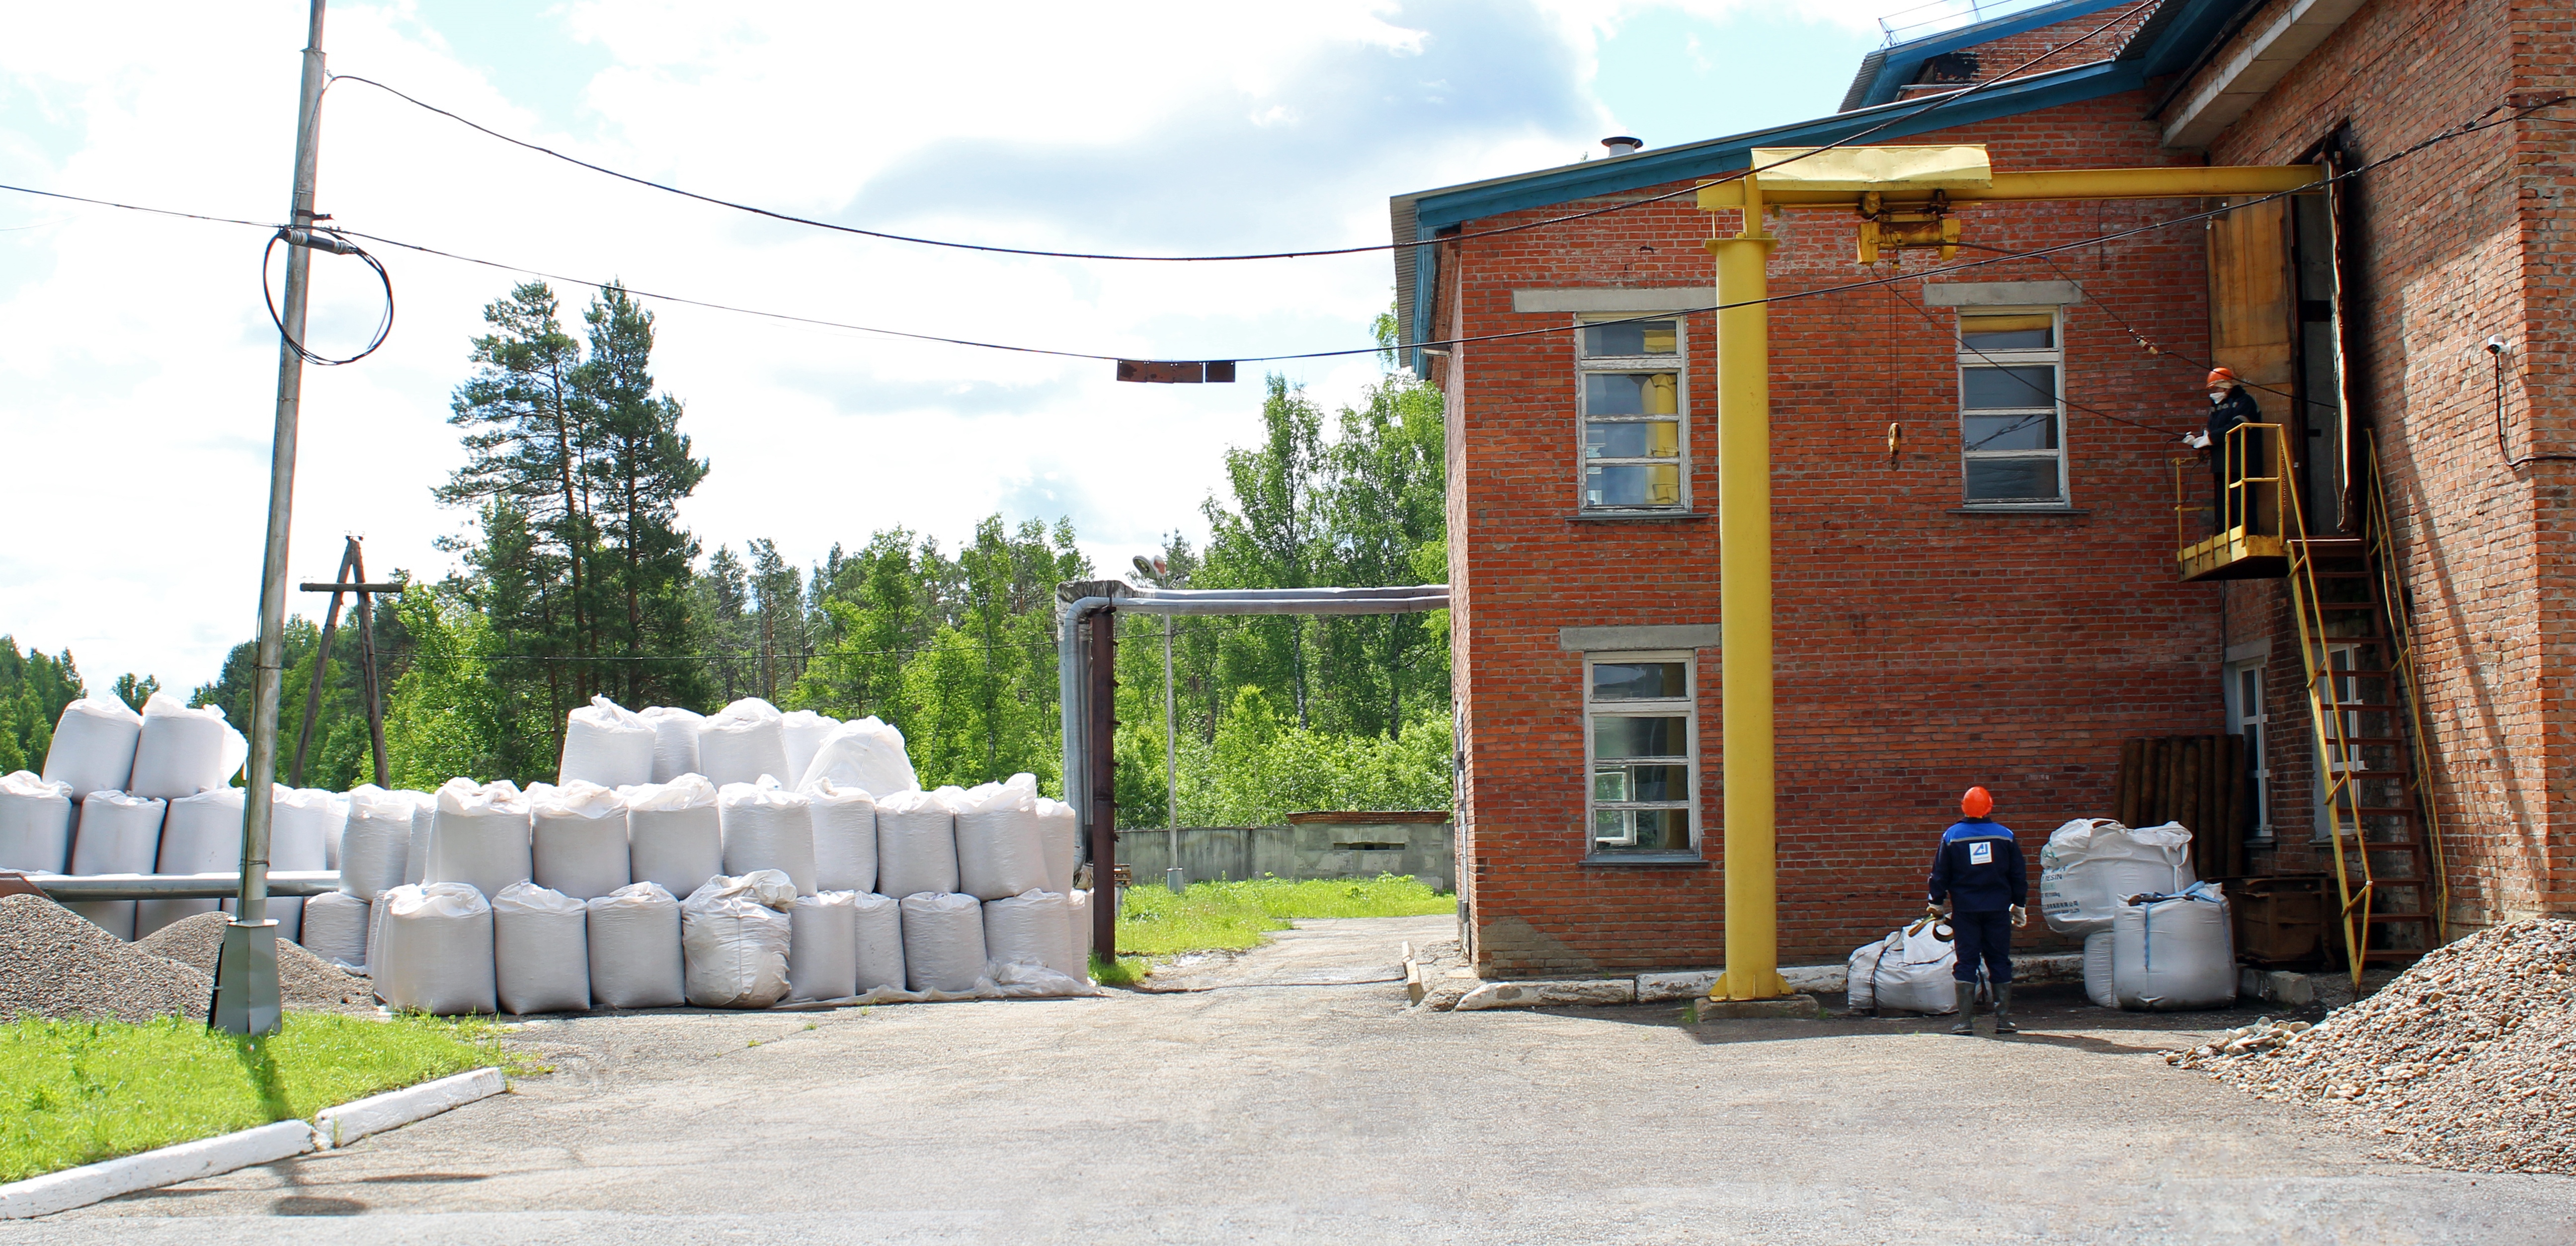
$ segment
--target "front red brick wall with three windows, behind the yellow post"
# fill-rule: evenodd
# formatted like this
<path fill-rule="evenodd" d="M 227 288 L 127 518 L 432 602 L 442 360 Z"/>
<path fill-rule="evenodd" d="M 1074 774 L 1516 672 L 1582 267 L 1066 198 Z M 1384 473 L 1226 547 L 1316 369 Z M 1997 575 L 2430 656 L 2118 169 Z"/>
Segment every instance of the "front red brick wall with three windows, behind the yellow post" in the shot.
<path fill-rule="evenodd" d="M 1958 126 L 1996 167 L 2164 165 L 2143 93 Z M 1659 193 L 1667 188 L 1649 188 Z M 1641 196 L 1643 196 L 1641 193 Z M 1468 221 L 1468 232 L 1597 203 Z M 1968 206 L 1971 242 L 2027 250 L 2169 219 L 2195 203 Z M 1728 214 L 1721 229 L 1734 229 Z M 1837 214 L 1790 214 L 1772 281 L 1772 523 L 1783 960 L 1839 960 L 1919 911 L 1937 832 L 1971 783 L 2038 844 L 2110 814 L 2120 741 L 2215 731 L 2218 595 L 2177 584 L 2174 438 L 2200 422 L 2197 371 L 2136 335 L 2205 353 L 2200 229 L 1945 273 L 2081 281 L 2066 312 L 2074 515 L 1960 515 L 1955 337 L 1919 281 L 1870 275 Z M 1455 242 L 1450 335 L 1566 324 L 1515 288 L 1698 286 L 1710 219 L 1685 201 Z M 1986 252 L 1963 252 L 1976 260 Z M 1904 273 L 1932 275 L 1927 255 Z M 1700 651 L 1705 865 L 1584 865 L 1582 656 L 1564 626 L 1716 623 L 1713 324 L 1687 319 L 1692 510 L 1579 523 L 1571 335 L 1463 345 L 1450 394 L 1450 584 L 1461 708 L 1461 852 L 1476 958 L 1492 973 L 1716 965 L 1723 947 L 1718 651 Z M 1886 427 L 1904 425 L 1888 463 Z M 2190 476 L 2205 489 L 2205 469 Z M 2030 940 L 2043 942 L 2038 927 Z"/>

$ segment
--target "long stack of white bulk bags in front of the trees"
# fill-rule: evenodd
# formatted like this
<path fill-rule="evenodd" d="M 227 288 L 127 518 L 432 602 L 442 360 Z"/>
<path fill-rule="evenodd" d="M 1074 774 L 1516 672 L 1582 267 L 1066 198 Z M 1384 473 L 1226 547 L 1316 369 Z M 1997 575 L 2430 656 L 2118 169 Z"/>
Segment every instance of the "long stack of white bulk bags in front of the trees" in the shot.
<path fill-rule="evenodd" d="M 75 703 L 46 772 L 0 777 L 0 868 L 232 870 L 242 788 L 227 783 L 247 749 L 206 721 L 222 711 Z M 144 759 L 175 777 L 134 783 Z M 337 893 L 270 901 L 281 934 L 435 1014 L 1095 991 L 1074 811 L 1030 775 L 925 793 L 876 718 L 595 698 L 569 716 L 556 780 L 276 788 L 270 865 L 340 870 Z M 214 906 L 77 909 L 131 940 Z"/>

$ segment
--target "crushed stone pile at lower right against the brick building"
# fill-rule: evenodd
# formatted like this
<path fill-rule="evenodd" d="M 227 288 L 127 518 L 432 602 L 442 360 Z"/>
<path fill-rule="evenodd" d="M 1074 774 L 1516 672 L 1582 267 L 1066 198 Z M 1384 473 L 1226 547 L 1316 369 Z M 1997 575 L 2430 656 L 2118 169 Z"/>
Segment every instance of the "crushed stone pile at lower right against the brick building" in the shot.
<path fill-rule="evenodd" d="M 2576 922 L 2439 947 L 2316 1022 L 2257 1022 L 2166 1055 L 2388 1138 L 2388 1158 L 2576 1174 Z"/>

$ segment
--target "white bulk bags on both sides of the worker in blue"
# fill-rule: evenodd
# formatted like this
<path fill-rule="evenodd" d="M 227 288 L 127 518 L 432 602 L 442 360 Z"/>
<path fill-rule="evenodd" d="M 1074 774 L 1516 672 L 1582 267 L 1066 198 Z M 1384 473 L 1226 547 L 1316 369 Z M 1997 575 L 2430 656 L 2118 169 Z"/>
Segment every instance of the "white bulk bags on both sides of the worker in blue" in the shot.
<path fill-rule="evenodd" d="M 2192 832 L 2076 819 L 2040 850 L 2040 916 L 2084 937 L 2084 994 L 2110 1009 L 2223 1009 L 2236 1001 L 2228 898 L 2192 878 Z M 1937 922 L 1852 950 L 1855 1009 L 1955 1012 L 1958 963 Z"/>

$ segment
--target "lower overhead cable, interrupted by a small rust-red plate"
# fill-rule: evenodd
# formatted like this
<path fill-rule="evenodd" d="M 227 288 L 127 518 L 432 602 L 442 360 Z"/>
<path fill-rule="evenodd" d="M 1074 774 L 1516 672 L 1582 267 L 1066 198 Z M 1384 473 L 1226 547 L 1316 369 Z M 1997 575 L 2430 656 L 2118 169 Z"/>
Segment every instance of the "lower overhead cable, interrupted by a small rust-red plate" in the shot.
<path fill-rule="evenodd" d="M 2061 242 L 2061 245 L 2050 245 L 2050 247 L 2038 247 L 2038 250 L 2025 250 L 2025 252 L 1999 252 L 1999 255 L 1994 255 L 1989 260 L 1950 263 L 1950 265 L 1935 268 L 1935 273 L 1963 273 L 1963 270 L 1999 265 L 1999 263 L 2012 263 L 2012 260 L 2030 260 L 2030 257 L 2061 255 L 2061 252 L 2071 252 L 2071 250 L 2097 247 L 2097 245 L 2105 245 L 2105 242 L 2120 242 L 2120 239 L 2128 239 L 2128 237 L 2151 234 L 2151 232 L 2159 232 L 2159 229 L 2172 229 L 2172 227 L 2182 227 L 2182 224 L 2208 221 L 2208 219 L 2215 219 L 2215 216 L 2226 216 L 2231 211 L 2251 209 L 2257 203 L 2269 203 L 2275 198 L 2287 198 L 2287 196 L 2316 191 L 2316 188 L 2329 185 L 2329 183 L 2339 183 L 2339 180 L 2347 180 L 2347 178 L 2360 178 L 2360 175 L 2372 172 L 2378 167 L 2385 167 L 2385 165 L 2391 165 L 2396 160 L 2406 160 L 2406 157 L 2411 157 L 2416 152 L 2424 152 L 2427 147 L 2434 147 L 2439 142 L 2460 139 L 2460 136 L 2476 134 L 2481 129 L 2494 129 L 2494 126 L 2501 126 L 2506 121 L 2517 121 L 2517 118 L 2527 116 L 2527 113 L 2514 113 L 2506 121 L 2488 124 L 2486 118 L 2494 116 L 2499 108 L 2501 106 L 2488 108 L 2486 113 L 2478 113 L 2476 118 L 2468 118 L 2468 121 L 2463 121 L 2463 124 L 2458 124 L 2452 129 L 2437 131 L 2437 134 L 2432 134 L 2432 136 L 2427 136 L 2427 139 L 2421 139 L 2421 142 L 2416 142 L 2416 144 L 2411 144 L 2406 149 L 2391 152 L 2391 154 L 2385 154 L 2380 160 L 2372 160 L 2367 165 L 2354 165 L 2354 167 L 2349 167 L 2344 172 L 2326 175 L 2326 178 L 2318 178 L 2313 183 L 2295 185 L 2290 191 L 2275 191 L 2275 193 L 2267 193 L 2267 196 L 2246 198 L 2241 203 L 2226 203 L 2226 206 L 2218 206 L 2218 209 L 2192 211 L 2192 214 L 2174 216 L 2174 219 L 2166 219 L 2166 221 L 2151 221 L 2151 224 L 2141 224 L 2141 227 L 2130 227 L 2130 229 L 2115 229 L 2110 234 L 2094 234 L 2094 237 L 2084 237 L 2084 239 L 2074 239 L 2074 242 Z M 2548 106 L 2535 106 L 2535 108 L 2548 108 Z M 263 221 L 242 221 L 242 219 L 229 219 L 229 216 L 201 216 L 201 214 L 170 211 L 170 209 L 147 209 L 147 206 L 134 206 L 134 203 L 103 201 L 103 198 L 62 196 L 62 193 L 54 193 L 54 191 L 33 191 L 33 188 L 8 185 L 8 183 L 0 183 L 0 191 L 21 191 L 21 193 L 49 196 L 49 198 L 70 198 L 70 201 L 80 201 L 80 203 L 98 203 L 98 206 L 129 209 L 129 211 L 152 211 L 152 214 L 162 214 L 162 216 L 188 216 L 188 219 L 198 219 L 198 221 L 247 224 L 247 227 L 258 227 L 258 229 L 276 229 L 273 224 L 263 224 Z M 366 232 L 358 232 L 358 229 L 335 229 L 335 234 L 337 237 L 363 237 L 368 242 L 381 242 L 386 247 L 402 247 L 402 250 L 412 250 L 412 252 L 422 252 L 422 255 L 438 255 L 438 257 L 446 257 L 446 260 L 459 260 L 459 263 L 482 265 L 482 268 L 497 268 L 497 270 L 505 270 L 505 273 L 526 273 L 526 275 L 533 275 L 533 278 L 562 281 L 562 283 L 582 286 L 582 288 L 592 288 L 592 291 L 605 291 L 608 286 L 616 286 L 611 281 L 587 281 L 587 278 L 574 278 L 574 275 L 564 275 L 564 273 L 549 273 L 549 270 L 541 270 L 541 268 L 513 265 L 513 263 L 502 263 L 502 260 L 482 260 L 482 257 L 474 257 L 474 255 L 438 250 L 438 247 L 428 247 L 428 245 L 420 245 L 420 242 L 402 242 L 402 239 L 384 237 L 384 234 L 366 234 Z M 1899 283 L 1899 281 L 1919 281 L 1922 275 L 1927 275 L 1927 273 L 1896 273 L 1896 275 L 1883 275 L 1883 278 L 1862 278 L 1862 281 L 1847 281 L 1847 283 L 1837 283 L 1837 286 L 1816 286 L 1816 288 L 1806 288 L 1806 291 L 1772 293 L 1772 296 L 1765 296 L 1765 299 L 1744 299 L 1744 301 L 1736 301 L 1736 304 L 1705 304 L 1705 306 L 1685 306 L 1685 309 L 1674 309 L 1674 312 L 1646 312 L 1646 314 L 1620 317 L 1620 319 L 1595 319 L 1595 322 L 1584 322 L 1584 324 L 1548 324 L 1548 327 L 1538 327 L 1538 330 L 1507 330 L 1507 332 L 1486 332 L 1486 335 L 1468 335 L 1468 337 L 1443 337 L 1443 340 L 1404 342 L 1404 345 L 1406 348 L 1455 348 L 1455 345 L 1473 345 L 1473 342 L 1546 337 L 1546 335 L 1558 335 L 1558 332 L 1577 332 L 1577 330 L 1584 330 L 1584 327 L 1633 324 L 1633 322 L 1646 322 L 1646 319 L 1672 319 L 1672 317 L 1690 317 L 1690 314 L 1705 314 L 1705 312 L 1728 312 L 1728 309 L 1739 309 L 1739 306 L 1762 306 L 1762 304 L 1783 304 L 1783 301 L 1798 301 L 1798 299 L 1816 299 L 1816 296 L 1829 296 L 1829 293 L 1847 293 L 1847 291 L 1862 291 L 1862 288 L 1875 288 L 1875 286 L 1891 286 L 1891 283 Z M 1084 358 L 1084 360 L 1123 360 L 1123 358 L 1128 358 L 1128 355 L 1108 355 L 1108 353 L 1090 353 L 1090 350 L 1054 350 L 1054 348 L 1033 348 L 1033 345 L 1012 345 L 1012 342 L 984 342 L 984 340 L 971 340 L 971 337 L 943 337 L 943 335 L 886 330 L 886 327 L 873 327 L 873 324 L 850 324 L 850 322 L 819 319 L 819 317 L 796 317 L 796 314 L 788 314 L 788 312 L 762 312 L 762 309 L 752 309 L 752 306 L 716 304 L 716 301 L 706 301 L 706 299 L 683 299 L 683 296 L 675 296 L 675 293 L 657 293 L 657 291 L 644 291 L 644 288 L 634 288 L 634 286 L 618 286 L 618 288 L 623 288 L 629 293 L 636 293 L 636 296 L 644 296 L 644 299 L 659 299 L 659 301 L 680 304 L 680 306 L 703 306 L 703 309 L 711 309 L 711 312 L 734 312 L 734 314 L 744 314 L 744 317 L 778 319 L 778 322 L 788 322 L 788 324 L 814 324 L 814 327 L 827 327 L 827 330 L 868 332 L 868 335 L 902 337 L 902 340 L 914 340 L 914 342 L 940 342 L 940 345 L 963 345 L 963 348 L 976 348 L 976 350 L 1007 350 L 1007 353 L 1023 353 L 1023 355 L 1054 355 L 1054 358 Z M 1236 363 L 1288 363 L 1288 360 L 1309 360 L 1309 358 L 1350 358 L 1350 355 L 1378 355 L 1378 353 L 1383 353 L 1381 345 L 1365 345 L 1365 348 L 1303 350 L 1303 353 L 1280 353 L 1280 355 L 1234 355 L 1234 360 Z M 1200 355 L 1200 358 L 1206 358 L 1206 355 Z"/>

